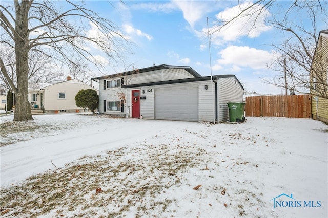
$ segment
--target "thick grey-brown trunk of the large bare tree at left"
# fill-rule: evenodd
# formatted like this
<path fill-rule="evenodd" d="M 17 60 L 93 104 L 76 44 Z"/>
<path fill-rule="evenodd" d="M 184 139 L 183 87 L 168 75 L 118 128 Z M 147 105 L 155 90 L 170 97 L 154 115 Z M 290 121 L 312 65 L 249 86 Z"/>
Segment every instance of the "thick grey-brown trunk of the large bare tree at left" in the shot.
<path fill-rule="evenodd" d="M 21 5 L 15 2 L 16 24 L 15 24 L 15 52 L 17 93 L 14 121 L 33 120 L 31 108 L 28 101 L 28 53 L 29 53 L 29 29 L 28 11 L 31 2 L 22 1 Z"/>

